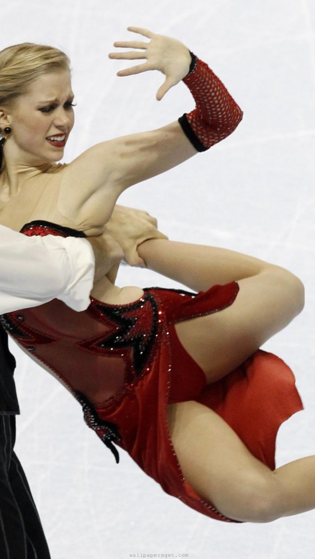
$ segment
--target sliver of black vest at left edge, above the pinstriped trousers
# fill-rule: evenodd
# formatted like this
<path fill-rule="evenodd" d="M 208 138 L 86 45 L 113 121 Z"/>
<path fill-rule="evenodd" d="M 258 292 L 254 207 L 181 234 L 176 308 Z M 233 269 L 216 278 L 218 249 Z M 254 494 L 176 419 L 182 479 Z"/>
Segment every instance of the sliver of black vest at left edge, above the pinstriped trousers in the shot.
<path fill-rule="evenodd" d="M 8 348 L 8 336 L 0 326 L 0 414 L 20 413 L 13 380 L 15 364 Z"/>

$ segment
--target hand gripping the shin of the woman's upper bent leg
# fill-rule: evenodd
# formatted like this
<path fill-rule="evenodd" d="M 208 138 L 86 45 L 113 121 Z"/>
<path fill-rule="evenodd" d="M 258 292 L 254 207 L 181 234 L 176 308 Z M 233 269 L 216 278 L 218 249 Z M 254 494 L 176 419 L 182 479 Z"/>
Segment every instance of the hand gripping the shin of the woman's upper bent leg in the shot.
<path fill-rule="evenodd" d="M 167 239 L 157 229 L 157 220 L 146 211 L 136 210 L 116 205 L 111 219 L 105 226 L 105 233 L 123 249 L 123 257 L 130 266 L 145 267 L 145 262 L 139 257 L 137 248 L 149 239 Z"/>

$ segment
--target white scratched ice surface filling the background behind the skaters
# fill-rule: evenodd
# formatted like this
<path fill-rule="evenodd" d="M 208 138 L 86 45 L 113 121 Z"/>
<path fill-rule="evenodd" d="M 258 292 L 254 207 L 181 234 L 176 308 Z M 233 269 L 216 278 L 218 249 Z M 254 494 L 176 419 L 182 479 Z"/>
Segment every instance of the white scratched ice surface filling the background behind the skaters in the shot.
<path fill-rule="evenodd" d="M 44 42 L 72 59 L 77 124 L 66 160 L 103 139 L 153 129 L 193 107 L 180 84 L 158 103 L 162 75 L 117 78 L 107 53 L 139 25 L 182 40 L 223 79 L 245 116 L 210 152 L 132 188 L 126 205 L 156 215 L 171 238 L 248 252 L 297 273 L 306 307 L 266 348 L 293 368 L 305 411 L 281 429 L 277 463 L 314 452 L 315 4 L 313 0 L 40 0 L 1 2 L 0 48 Z M 75 185 L 73 185 L 75 187 Z M 121 284 L 173 285 L 124 267 Z M 13 347 L 13 346 L 12 346 Z M 313 559 L 315 513 L 271 524 L 216 522 L 163 494 L 88 430 L 76 401 L 16 347 L 17 454 L 53 559 Z M 184 556 L 184 555 L 183 555 Z"/>

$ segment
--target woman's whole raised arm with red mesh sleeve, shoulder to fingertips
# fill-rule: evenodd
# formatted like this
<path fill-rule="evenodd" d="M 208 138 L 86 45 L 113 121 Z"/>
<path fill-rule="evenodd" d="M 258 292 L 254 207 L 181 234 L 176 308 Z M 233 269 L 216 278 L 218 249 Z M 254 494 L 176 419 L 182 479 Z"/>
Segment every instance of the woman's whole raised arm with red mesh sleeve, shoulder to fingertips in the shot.
<path fill-rule="evenodd" d="M 124 136 L 97 144 L 65 169 L 65 188 L 60 203 L 72 209 L 72 219 L 81 224 L 104 225 L 117 197 L 132 184 L 163 173 L 226 138 L 242 119 L 242 111 L 210 68 L 190 53 L 180 41 L 138 27 L 130 31 L 149 42 L 117 41 L 112 59 L 140 60 L 118 75 L 129 76 L 149 70 L 165 75 L 157 99 L 184 80 L 196 107 L 178 121 L 158 130 Z M 76 184 L 76 188 L 69 188 Z M 67 212 L 69 215 L 69 212 Z M 97 221 L 90 224 L 93 217 Z"/>

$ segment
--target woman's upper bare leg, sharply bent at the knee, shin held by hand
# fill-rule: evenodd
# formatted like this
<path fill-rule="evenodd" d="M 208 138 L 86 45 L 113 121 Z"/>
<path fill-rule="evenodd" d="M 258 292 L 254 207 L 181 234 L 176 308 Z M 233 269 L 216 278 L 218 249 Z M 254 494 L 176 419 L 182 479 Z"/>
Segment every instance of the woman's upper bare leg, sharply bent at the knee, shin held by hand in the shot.
<path fill-rule="evenodd" d="M 238 367 L 303 308 L 298 278 L 257 258 L 164 239 L 146 241 L 139 253 L 149 268 L 197 291 L 238 280 L 239 293 L 227 309 L 176 324 L 209 383 Z"/>

